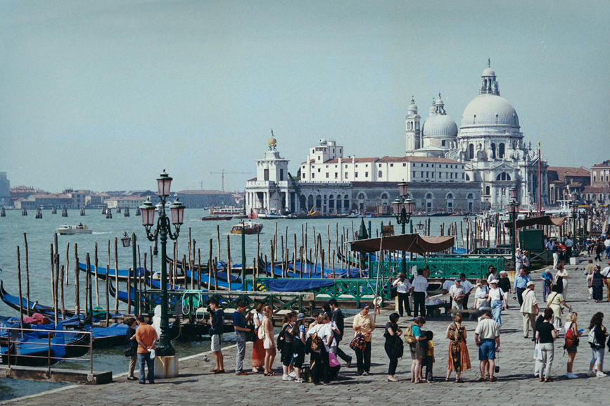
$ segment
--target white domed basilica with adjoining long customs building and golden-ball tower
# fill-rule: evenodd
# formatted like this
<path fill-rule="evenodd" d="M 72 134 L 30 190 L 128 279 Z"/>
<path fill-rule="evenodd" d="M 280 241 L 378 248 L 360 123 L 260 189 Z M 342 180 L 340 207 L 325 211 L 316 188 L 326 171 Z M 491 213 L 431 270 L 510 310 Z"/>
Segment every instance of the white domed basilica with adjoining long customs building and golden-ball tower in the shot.
<path fill-rule="evenodd" d="M 421 122 L 414 99 L 405 118 L 405 154 L 381 158 L 343 156 L 343 146 L 320 139 L 296 177 L 288 177 L 288 160 L 269 139 L 265 158 L 257 160 L 257 177 L 246 184 L 246 208 L 254 212 L 323 214 L 388 210 L 398 182 L 409 183 L 416 212 L 503 210 L 516 186 L 524 208 L 549 203 L 547 163 L 523 141 L 519 116 L 500 96 L 488 63 L 476 96 L 464 109 L 458 129 L 445 112 L 441 95 L 433 99 Z M 539 173 L 540 182 L 539 184 Z"/>

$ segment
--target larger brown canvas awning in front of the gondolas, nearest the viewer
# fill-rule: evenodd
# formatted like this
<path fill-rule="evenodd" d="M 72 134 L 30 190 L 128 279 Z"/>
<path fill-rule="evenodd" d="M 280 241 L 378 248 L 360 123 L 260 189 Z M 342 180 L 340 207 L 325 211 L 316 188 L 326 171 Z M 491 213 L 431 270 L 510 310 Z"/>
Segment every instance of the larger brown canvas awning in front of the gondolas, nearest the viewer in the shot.
<path fill-rule="evenodd" d="M 352 251 L 374 253 L 379 251 L 381 238 L 350 241 Z M 398 236 L 383 237 L 383 250 L 406 251 L 407 253 L 438 253 L 451 248 L 454 237 L 420 236 L 419 234 L 400 234 Z"/>

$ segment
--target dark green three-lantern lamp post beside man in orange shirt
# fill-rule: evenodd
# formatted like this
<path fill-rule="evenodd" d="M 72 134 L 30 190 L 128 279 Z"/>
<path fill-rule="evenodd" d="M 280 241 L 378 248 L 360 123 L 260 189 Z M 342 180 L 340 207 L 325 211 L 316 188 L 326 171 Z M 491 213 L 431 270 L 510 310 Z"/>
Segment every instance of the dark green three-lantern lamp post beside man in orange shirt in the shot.
<path fill-rule="evenodd" d="M 180 233 L 180 226 L 184 223 L 184 205 L 178 200 L 170 206 L 170 211 L 172 212 L 171 222 L 170 218 L 165 214 L 165 199 L 170 196 L 171 185 L 172 178 L 163 170 L 163 173 L 157 179 L 161 208 L 159 210 L 157 228 L 154 231 L 151 231 L 151 229 L 155 225 L 156 208 L 153 203 L 151 203 L 151 198 L 149 197 L 148 200 L 140 206 L 142 225 L 146 229 L 148 241 L 157 241 L 159 238 L 161 242 L 161 334 L 156 352 L 162 357 L 176 355 L 176 351 L 172 347 L 172 341 L 170 339 L 170 322 L 167 317 L 167 237 L 176 240 Z M 174 224 L 174 233 L 172 233 L 172 223 Z"/>

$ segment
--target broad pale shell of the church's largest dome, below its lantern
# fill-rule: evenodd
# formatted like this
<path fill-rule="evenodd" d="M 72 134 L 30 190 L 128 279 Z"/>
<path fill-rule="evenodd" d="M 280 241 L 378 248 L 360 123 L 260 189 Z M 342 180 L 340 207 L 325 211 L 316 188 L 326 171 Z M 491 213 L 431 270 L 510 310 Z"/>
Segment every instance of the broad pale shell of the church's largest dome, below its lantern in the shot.
<path fill-rule="evenodd" d="M 495 94 L 479 94 L 464 109 L 464 127 L 503 126 L 519 128 L 519 117 L 511 103 Z"/>

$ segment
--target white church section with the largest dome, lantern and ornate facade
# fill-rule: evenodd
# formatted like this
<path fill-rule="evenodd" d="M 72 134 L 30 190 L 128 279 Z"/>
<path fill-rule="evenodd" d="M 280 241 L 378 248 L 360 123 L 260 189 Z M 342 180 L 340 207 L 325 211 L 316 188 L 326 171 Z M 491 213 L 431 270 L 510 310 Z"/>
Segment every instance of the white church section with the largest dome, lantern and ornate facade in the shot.
<path fill-rule="evenodd" d="M 457 140 L 445 158 L 465 164 L 466 181 L 480 182 L 483 208 L 502 210 L 509 202 L 509 189 L 516 186 L 522 208 L 549 203 L 547 162 L 540 162 L 538 148 L 523 141 L 519 116 L 500 96 L 500 85 L 488 63 L 476 96 L 464 109 Z"/>

